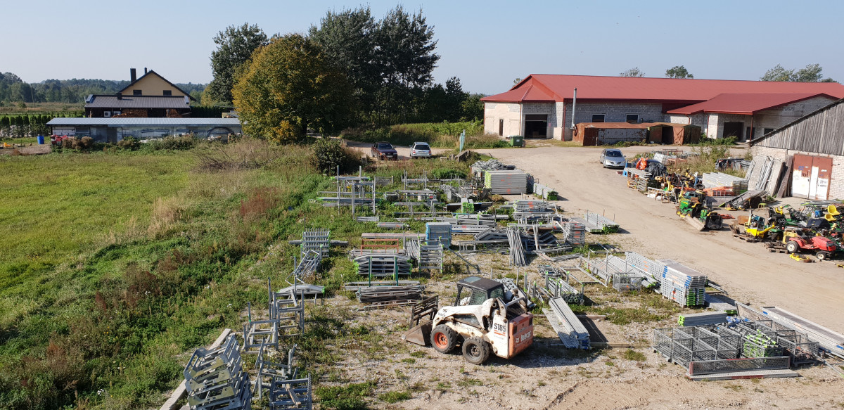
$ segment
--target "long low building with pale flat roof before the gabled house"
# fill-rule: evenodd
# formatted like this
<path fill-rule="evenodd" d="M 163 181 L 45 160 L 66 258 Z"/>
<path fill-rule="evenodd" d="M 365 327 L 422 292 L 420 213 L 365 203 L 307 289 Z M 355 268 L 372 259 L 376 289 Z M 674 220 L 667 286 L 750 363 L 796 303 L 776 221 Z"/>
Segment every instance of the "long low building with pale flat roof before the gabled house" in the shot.
<path fill-rule="evenodd" d="M 53 135 L 90 137 L 100 143 L 116 143 L 127 137 L 193 134 L 206 138 L 242 132 L 237 118 L 53 118 L 47 125 Z"/>

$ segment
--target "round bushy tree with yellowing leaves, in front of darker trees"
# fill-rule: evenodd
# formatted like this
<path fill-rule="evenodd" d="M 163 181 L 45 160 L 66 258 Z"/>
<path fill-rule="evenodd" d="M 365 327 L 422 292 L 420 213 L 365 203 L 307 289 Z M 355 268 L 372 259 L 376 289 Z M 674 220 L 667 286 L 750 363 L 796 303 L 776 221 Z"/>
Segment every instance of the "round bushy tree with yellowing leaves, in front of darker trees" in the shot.
<path fill-rule="evenodd" d="M 274 38 L 255 51 L 232 89 L 244 132 L 289 143 L 308 128 L 335 132 L 349 125 L 351 87 L 321 51 L 302 35 Z"/>

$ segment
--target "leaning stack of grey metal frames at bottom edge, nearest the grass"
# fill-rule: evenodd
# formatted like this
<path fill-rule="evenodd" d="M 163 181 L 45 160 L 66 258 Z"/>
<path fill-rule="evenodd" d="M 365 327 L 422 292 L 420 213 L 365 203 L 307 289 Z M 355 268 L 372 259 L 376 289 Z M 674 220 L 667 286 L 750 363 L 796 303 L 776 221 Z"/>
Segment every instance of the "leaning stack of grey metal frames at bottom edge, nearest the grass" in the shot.
<path fill-rule="evenodd" d="M 252 385 L 243 370 L 235 335 L 226 338 L 220 348 L 197 348 L 183 374 L 192 410 L 252 408 Z"/>

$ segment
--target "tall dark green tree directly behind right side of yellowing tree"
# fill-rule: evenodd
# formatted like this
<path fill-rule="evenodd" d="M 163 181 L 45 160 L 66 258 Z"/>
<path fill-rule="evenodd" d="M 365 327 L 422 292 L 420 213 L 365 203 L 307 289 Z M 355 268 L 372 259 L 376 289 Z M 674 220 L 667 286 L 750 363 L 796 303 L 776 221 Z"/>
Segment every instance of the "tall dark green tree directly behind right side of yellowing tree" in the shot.
<path fill-rule="evenodd" d="M 371 106 L 381 84 L 375 61 L 378 26 L 370 8 L 327 11 L 319 27 L 311 25 L 308 36 L 322 47 L 322 56 L 346 73 L 354 94 Z"/>

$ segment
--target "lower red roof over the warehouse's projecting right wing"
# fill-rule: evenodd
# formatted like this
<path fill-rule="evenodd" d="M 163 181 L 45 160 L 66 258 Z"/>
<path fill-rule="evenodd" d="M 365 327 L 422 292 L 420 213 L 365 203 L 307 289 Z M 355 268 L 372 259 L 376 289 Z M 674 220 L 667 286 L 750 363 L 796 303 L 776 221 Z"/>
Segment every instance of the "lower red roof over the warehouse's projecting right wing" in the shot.
<path fill-rule="evenodd" d="M 794 94 L 717 94 L 714 98 L 702 103 L 684 106 L 676 110 L 667 111 L 668 114 L 696 114 L 698 112 L 718 112 L 722 114 L 752 115 L 757 111 L 769 110 L 779 105 L 791 104 L 825 93 L 794 93 Z"/>

